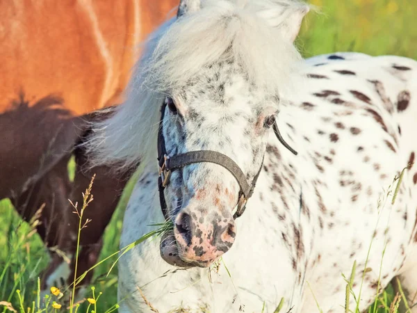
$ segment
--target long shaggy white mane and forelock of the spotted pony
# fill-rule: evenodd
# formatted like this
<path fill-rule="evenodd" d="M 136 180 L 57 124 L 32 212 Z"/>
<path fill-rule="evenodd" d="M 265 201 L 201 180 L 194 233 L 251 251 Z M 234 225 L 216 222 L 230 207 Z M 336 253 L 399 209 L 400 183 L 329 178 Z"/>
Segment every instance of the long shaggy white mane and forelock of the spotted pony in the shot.
<path fill-rule="evenodd" d="M 147 42 L 126 102 L 92 126 L 85 143 L 93 166 L 156 165 L 156 134 L 165 95 L 186 86 L 202 67 L 233 58 L 265 93 L 291 87 L 300 54 L 285 38 L 288 16 L 306 5 L 291 0 L 206 0 L 196 13 L 165 23 Z"/>

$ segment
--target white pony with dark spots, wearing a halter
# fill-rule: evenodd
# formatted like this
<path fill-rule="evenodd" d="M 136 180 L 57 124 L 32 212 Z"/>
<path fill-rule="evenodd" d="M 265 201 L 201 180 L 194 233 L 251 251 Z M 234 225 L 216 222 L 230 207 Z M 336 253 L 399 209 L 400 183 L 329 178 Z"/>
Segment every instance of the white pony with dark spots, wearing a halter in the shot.
<path fill-rule="evenodd" d="M 417 63 L 302 61 L 293 41 L 308 11 L 181 1 L 129 99 L 95 125 L 95 162 L 142 168 L 120 246 L 173 225 L 120 259 L 120 312 L 275 312 L 281 300 L 281 312 L 318 312 L 316 300 L 345 312 L 355 260 L 360 311 L 395 276 L 412 305 Z"/>

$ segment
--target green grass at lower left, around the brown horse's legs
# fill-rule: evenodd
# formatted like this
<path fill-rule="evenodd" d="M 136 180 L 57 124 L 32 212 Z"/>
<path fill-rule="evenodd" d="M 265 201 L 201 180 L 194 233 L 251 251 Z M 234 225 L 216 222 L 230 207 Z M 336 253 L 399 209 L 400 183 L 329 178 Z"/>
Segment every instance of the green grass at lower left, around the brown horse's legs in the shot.
<path fill-rule="evenodd" d="M 73 161 L 70 162 L 69 169 L 70 176 L 73 177 Z M 101 250 L 100 260 L 119 250 L 122 218 L 131 189 L 132 183 L 126 187 L 115 214 L 111 219 L 111 223 L 106 228 L 104 233 L 104 247 Z M 92 193 L 94 194 L 94 187 Z M 42 268 L 47 266 L 49 260 L 47 251 L 43 248 L 38 234 L 33 234 L 30 238 L 25 237 L 30 231 L 30 225 L 28 223 L 22 223 L 22 220 L 13 209 L 10 201 L 1 201 L 0 247 L 4 248 L 0 249 L 0 275 L 3 268 L 7 268 L 7 271 L 3 279 L 0 277 L 0 301 L 7 300 L 10 302 L 11 300 L 15 309 L 19 307 L 15 289 L 19 289 L 25 299 L 33 300 L 35 298 L 35 291 L 37 290 L 38 273 L 40 273 Z M 117 303 L 117 266 L 106 277 L 114 261 L 115 257 L 104 264 L 100 264 L 95 269 L 95 277 L 92 280 L 92 285 L 96 287 L 97 292 L 102 291 L 106 295 L 99 299 L 97 312 L 106 312 L 106 310 Z M 21 268 L 21 264 L 26 264 L 26 268 Z M 22 274 L 22 278 L 18 280 L 17 286 L 15 287 L 15 278 L 20 274 Z M 10 294 L 13 294 L 12 298 L 9 297 Z M 91 291 L 88 296 L 92 296 Z M 26 306 L 31 305 L 31 300 L 26 302 Z M 85 304 L 83 307 L 80 307 L 79 312 L 86 312 L 86 308 L 87 305 Z M 3 307 L 1 306 L 0 312 L 3 312 Z"/>

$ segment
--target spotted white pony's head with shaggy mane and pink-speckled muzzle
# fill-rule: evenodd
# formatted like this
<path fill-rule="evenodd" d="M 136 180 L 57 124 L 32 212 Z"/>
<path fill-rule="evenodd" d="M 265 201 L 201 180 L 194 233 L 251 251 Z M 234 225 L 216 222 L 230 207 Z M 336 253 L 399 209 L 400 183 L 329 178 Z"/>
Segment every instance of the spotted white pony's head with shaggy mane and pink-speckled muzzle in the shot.
<path fill-rule="evenodd" d="M 150 40 L 129 99 L 90 139 L 96 159 L 122 168 L 138 161 L 156 166 L 161 125 L 167 157 L 220 152 L 252 182 L 293 90 L 301 59 L 293 41 L 308 11 L 291 0 L 181 1 L 177 19 Z M 172 171 L 163 196 L 174 229 L 161 241 L 163 259 L 209 266 L 227 252 L 238 235 L 239 191 L 234 175 L 215 163 Z"/>

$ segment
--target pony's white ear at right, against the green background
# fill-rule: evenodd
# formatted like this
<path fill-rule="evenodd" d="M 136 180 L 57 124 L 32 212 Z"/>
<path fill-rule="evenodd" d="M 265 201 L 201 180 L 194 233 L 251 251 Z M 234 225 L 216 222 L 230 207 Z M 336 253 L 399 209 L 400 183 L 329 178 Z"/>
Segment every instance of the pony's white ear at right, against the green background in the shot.
<path fill-rule="evenodd" d="M 259 15 L 272 27 L 279 27 L 284 38 L 294 42 L 300 33 L 302 19 L 309 13 L 310 6 L 300 3 L 298 6 L 276 6 L 262 10 Z"/>

